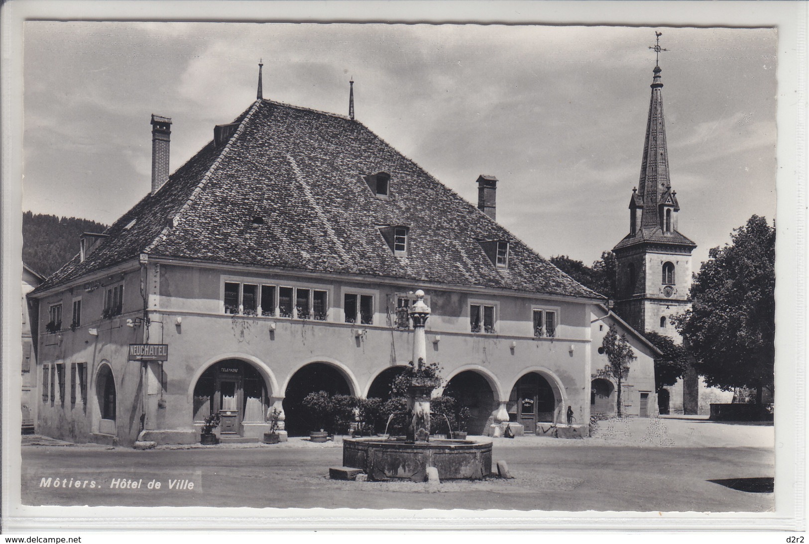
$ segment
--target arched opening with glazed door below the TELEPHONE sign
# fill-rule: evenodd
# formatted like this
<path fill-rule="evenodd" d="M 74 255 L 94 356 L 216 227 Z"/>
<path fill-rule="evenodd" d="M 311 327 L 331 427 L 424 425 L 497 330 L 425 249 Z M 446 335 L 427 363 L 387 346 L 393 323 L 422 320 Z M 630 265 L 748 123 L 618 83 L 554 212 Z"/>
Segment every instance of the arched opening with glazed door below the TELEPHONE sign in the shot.
<path fill-rule="evenodd" d="M 211 365 L 194 386 L 194 421 L 219 414 L 219 432 L 243 434 L 242 424 L 265 422 L 269 396 L 259 371 L 240 359 Z"/>

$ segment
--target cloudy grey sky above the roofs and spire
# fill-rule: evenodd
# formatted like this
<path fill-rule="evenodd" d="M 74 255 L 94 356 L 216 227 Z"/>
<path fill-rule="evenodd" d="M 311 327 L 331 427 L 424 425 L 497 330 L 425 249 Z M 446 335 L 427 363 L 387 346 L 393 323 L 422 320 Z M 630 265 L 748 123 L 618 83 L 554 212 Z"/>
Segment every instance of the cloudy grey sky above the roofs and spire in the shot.
<path fill-rule="evenodd" d="M 591 264 L 629 230 L 655 30 L 699 263 L 775 215 L 771 28 L 28 22 L 23 210 L 114 221 L 149 191 L 150 114 L 174 171 L 256 98 L 262 58 L 265 98 L 347 115 L 353 77 L 369 129 L 466 200 L 496 175 L 502 225 Z"/>

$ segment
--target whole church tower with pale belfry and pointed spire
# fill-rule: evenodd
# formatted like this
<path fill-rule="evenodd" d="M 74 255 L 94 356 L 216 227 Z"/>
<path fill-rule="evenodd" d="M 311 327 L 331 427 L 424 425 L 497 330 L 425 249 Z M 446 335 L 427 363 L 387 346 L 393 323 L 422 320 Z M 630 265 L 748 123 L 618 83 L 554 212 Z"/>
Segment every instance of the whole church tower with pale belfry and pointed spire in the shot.
<path fill-rule="evenodd" d="M 654 50 L 665 51 L 659 43 Z M 690 306 L 691 252 L 697 245 L 680 234 L 680 205 L 669 178 L 659 62 L 653 71 L 641 177 L 629 199 L 629 234 L 612 249 L 617 265 L 615 311 L 638 331 L 656 331 L 680 343 L 671 317 Z"/>

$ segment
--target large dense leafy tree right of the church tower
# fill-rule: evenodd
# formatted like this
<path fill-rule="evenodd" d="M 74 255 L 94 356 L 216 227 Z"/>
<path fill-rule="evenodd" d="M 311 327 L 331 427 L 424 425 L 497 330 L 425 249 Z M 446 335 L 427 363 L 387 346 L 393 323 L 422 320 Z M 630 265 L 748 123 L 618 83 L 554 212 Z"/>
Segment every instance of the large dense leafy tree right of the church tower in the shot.
<path fill-rule="evenodd" d="M 674 320 L 709 386 L 750 387 L 761 403 L 775 365 L 775 227 L 753 215 L 731 243 L 714 247 Z"/>

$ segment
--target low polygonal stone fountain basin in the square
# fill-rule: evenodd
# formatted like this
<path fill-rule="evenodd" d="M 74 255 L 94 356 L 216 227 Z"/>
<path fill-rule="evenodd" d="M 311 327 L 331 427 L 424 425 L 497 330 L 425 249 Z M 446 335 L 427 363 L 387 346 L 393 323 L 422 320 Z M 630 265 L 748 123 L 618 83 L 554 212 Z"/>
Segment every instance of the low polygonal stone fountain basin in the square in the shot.
<path fill-rule="evenodd" d="M 423 482 L 430 466 L 445 479 L 483 479 L 492 473 L 491 441 L 345 438 L 343 466 L 364 470 L 371 480 L 411 479 Z"/>

